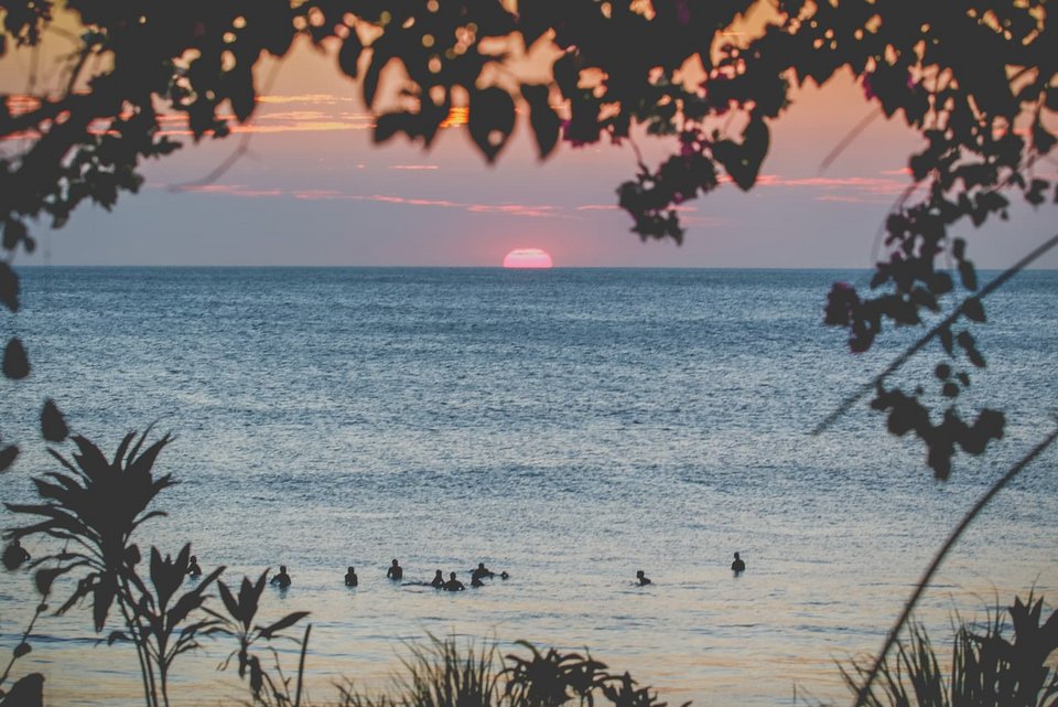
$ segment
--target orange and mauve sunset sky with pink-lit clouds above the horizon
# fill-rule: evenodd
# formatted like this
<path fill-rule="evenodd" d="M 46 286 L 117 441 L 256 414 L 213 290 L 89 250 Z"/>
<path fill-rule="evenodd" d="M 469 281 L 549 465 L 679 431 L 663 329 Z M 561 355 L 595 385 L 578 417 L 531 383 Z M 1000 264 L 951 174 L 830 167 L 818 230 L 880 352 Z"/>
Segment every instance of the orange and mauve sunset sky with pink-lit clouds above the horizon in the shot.
<path fill-rule="evenodd" d="M 9 52 L 0 90 L 24 88 L 28 68 L 25 52 Z M 177 189 L 239 144 L 238 135 L 198 146 L 183 138 L 184 149 L 143 167 L 140 194 L 123 194 L 111 213 L 82 206 L 61 231 L 37 226 L 41 247 L 19 263 L 499 266 L 511 249 L 542 248 L 557 267 L 865 268 L 918 144 L 899 120 L 878 119 L 821 171 L 873 108 L 848 75 L 806 88 L 771 126 L 757 186 L 727 184 L 688 203 L 678 247 L 641 243 L 616 207 L 615 190 L 636 168 L 628 146 L 562 146 L 541 163 L 520 116 L 493 167 L 462 127 L 444 129 L 431 151 L 402 138 L 376 147 L 358 86 L 306 43 L 261 89 L 245 129 L 249 153 L 225 174 Z M 640 147 L 656 164 L 670 143 L 643 138 Z M 1052 176 L 1052 164 L 1045 170 Z M 1006 224 L 956 234 L 971 240 L 980 267 L 1002 268 L 1054 235 L 1054 224 L 1052 206 L 1018 205 Z M 1038 266 L 1058 267 L 1058 254 Z"/>

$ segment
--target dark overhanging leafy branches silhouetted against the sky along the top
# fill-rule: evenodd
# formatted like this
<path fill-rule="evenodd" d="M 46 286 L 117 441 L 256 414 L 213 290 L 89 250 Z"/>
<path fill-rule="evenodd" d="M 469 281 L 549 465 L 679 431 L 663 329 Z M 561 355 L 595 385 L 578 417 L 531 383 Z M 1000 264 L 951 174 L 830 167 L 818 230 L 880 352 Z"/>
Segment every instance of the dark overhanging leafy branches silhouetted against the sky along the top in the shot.
<path fill-rule="evenodd" d="M 40 43 L 58 8 L 0 0 L 0 55 Z M 668 139 L 670 157 L 656 167 L 640 160 L 617 196 L 641 238 L 677 243 L 684 237 L 677 206 L 728 182 L 754 186 L 770 126 L 796 87 L 851 73 L 866 101 L 926 144 L 908 156 L 911 180 L 885 223 L 887 255 L 872 292 L 844 283 L 830 292 L 825 323 L 848 329 L 854 352 L 870 349 L 886 322 L 920 324 L 946 294 L 979 289 L 954 225 L 1006 218 L 1012 199 L 1058 200 L 1034 171 L 1055 147 L 1058 110 L 1058 30 L 1044 0 L 67 0 L 62 8 L 79 25 L 63 86 L 0 100 L 0 137 L 28 146 L 0 158 L 9 259 L 34 248 L 33 219 L 61 226 L 84 201 L 110 208 L 120 192 L 136 192 L 140 162 L 179 147 L 161 133 L 162 110 L 185 116 L 195 140 L 250 119 L 255 66 L 266 54 L 285 55 L 299 38 L 338 45 L 336 69 L 358 79 L 377 142 L 404 135 L 429 148 L 452 109 L 466 108 L 468 132 L 493 162 L 519 106 L 541 159 L 561 142 L 622 143 L 636 128 Z M 742 35 L 728 31 L 749 13 L 767 20 Z M 527 52 L 548 78 L 518 73 L 514 60 Z M 386 81 L 398 97 L 384 106 Z M 18 294 L 15 274 L 0 265 L 0 300 L 14 311 Z M 1005 422 L 991 409 L 967 421 L 956 405 L 986 362 L 970 331 L 986 319 L 982 302 L 970 298 L 958 314 L 938 336 L 941 421 L 918 392 L 879 386 L 873 403 L 892 432 L 915 431 L 926 442 L 941 479 L 957 448 L 981 453 Z M 12 378 L 29 372 L 18 339 L 3 368 Z M 4 448 L 0 462 L 14 454 Z"/>

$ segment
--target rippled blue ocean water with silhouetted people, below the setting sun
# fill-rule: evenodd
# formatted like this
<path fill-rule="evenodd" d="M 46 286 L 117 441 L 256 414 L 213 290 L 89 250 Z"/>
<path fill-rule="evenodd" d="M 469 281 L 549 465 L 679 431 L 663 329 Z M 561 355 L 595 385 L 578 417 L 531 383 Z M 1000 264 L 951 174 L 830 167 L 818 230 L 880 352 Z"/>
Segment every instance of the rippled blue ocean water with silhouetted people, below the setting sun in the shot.
<path fill-rule="evenodd" d="M 962 403 L 1006 411 L 984 459 L 933 480 L 920 443 L 866 401 L 811 429 L 921 333 L 848 353 L 822 326 L 862 271 L 29 268 L 6 330 L 32 375 L 4 382 L 0 433 L 23 453 L 3 500 L 56 469 L 46 397 L 112 452 L 153 424 L 165 518 L 141 546 L 190 542 L 238 583 L 283 564 L 266 618 L 312 614 L 309 689 L 385 687 L 428 634 L 583 651 L 669 704 L 843 704 L 839 664 L 878 649 L 950 529 L 1056 425 L 1058 272 L 986 302 L 989 357 Z M 928 382 L 927 349 L 897 376 Z M 930 386 L 928 395 L 933 390 Z M 71 443 L 56 449 L 69 453 Z M 1035 589 L 1058 596 L 1058 453 L 973 525 L 927 592 L 938 642 Z M 18 522 L 8 511 L 0 524 Z M 34 555 L 54 549 L 26 543 Z M 739 551 L 748 569 L 728 570 Z M 436 592 L 406 581 L 483 561 L 510 579 Z M 360 586 L 342 578 L 353 565 Z M 654 580 L 635 585 L 643 569 Z M 0 650 L 35 603 L 0 572 Z M 58 583 L 60 591 L 69 589 Z M 43 617 L 17 673 L 55 705 L 141 703 L 134 655 L 97 645 L 86 610 Z M 173 705 L 236 704 L 222 641 L 184 656 Z M 947 651 L 942 651 L 946 653 Z M 281 657 L 293 666 L 287 647 Z"/>

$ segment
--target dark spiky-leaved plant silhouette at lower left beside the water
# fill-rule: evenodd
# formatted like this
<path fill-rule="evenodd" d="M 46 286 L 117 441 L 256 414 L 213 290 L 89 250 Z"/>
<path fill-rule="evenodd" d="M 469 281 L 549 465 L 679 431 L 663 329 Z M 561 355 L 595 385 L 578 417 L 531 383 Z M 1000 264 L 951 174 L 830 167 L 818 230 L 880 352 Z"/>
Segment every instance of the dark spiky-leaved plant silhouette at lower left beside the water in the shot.
<path fill-rule="evenodd" d="M 50 450 L 68 473 L 50 472 L 33 480 L 43 503 L 7 504 L 15 514 L 42 519 L 9 529 L 4 536 L 20 539 L 45 535 L 64 543 L 62 550 L 31 560 L 30 566 L 36 568 L 37 589 L 46 597 L 55 579 L 67 574 L 78 575 L 75 589 L 57 613 L 87 602 L 97 632 L 104 630 L 111 609 L 117 607 L 123 629 L 110 632 L 107 643 L 131 642 L 136 646 L 145 704 L 163 707 L 169 705 L 169 677 L 174 661 L 198 647 L 201 638 L 216 633 L 236 635 L 240 640 L 237 651 L 240 676 L 249 667 L 251 685 L 257 685 L 258 679 L 268 679 L 268 675 L 249 647 L 277 636 L 305 612 L 290 614 L 269 626 L 251 628 L 263 586 L 262 575 L 258 586 L 247 589 L 248 582 L 244 585 L 238 602 L 225 585 L 218 585 L 225 606 L 238 621 L 237 629 L 231 620 L 214 611 L 201 613 L 199 610 L 206 609 L 206 591 L 224 567 L 214 569 L 193 589 L 179 594 L 190 566 L 190 544 L 184 545 L 175 558 L 163 557 L 152 547 L 147 578 L 141 577 L 141 554 L 133 533 L 145 521 L 165 515 L 152 504 L 162 490 L 175 483 L 170 474 L 152 473 L 158 456 L 171 437 L 166 435 L 144 447 L 149 432 L 148 429 L 138 439 L 134 432 L 127 435 L 109 460 L 96 444 L 80 436 L 73 437 L 77 447 L 73 461 Z M 37 613 L 44 607 L 42 602 Z M 22 654 L 29 652 L 24 640 L 23 645 Z M 10 672 L 10 667 L 8 669 Z M 258 687 L 255 695 L 259 693 Z"/>

